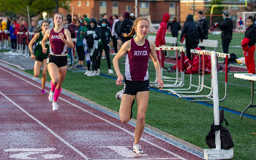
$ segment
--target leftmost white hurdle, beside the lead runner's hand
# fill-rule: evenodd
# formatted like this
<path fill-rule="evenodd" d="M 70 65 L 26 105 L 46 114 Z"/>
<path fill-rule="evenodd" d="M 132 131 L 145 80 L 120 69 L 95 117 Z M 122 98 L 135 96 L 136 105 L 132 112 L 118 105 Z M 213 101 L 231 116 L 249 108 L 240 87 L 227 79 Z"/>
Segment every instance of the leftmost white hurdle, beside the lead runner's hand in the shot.
<path fill-rule="evenodd" d="M 176 51 L 176 65 L 178 66 L 178 51 L 181 51 L 181 62 L 184 62 L 184 48 L 183 47 L 156 47 L 156 50 L 173 50 Z M 184 66 L 184 64 L 181 64 L 181 68 Z M 178 67 L 176 68 L 176 78 L 171 78 L 167 76 L 162 75 L 162 68 L 161 68 L 161 78 L 162 81 L 174 81 L 174 84 L 165 84 L 164 87 L 183 87 L 184 86 L 184 67 L 181 71 L 181 77 L 178 77 Z M 156 80 L 149 82 L 151 86 L 157 86 L 157 72 L 156 72 Z"/>

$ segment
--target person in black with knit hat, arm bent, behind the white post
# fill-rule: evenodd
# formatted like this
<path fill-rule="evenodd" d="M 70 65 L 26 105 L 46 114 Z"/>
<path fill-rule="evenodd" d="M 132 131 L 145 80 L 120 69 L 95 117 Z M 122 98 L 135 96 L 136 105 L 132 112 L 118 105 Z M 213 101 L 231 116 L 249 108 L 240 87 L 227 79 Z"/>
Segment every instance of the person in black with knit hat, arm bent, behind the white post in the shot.
<path fill-rule="evenodd" d="M 228 47 L 230 46 L 230 41 L 232 40 L 232 34 L 233 34 L 233 21 L 230 17 L 230 12 L 227 10 L 222 12 L 222 16 L 224 19 L 224 23 L 215 23 L 215 27 L 219 27 L 219 29 L 222 31 L 221 39 L 222 39 L 222 49 L 223 52 L 228 54 Z M 224 61 L 226 62 L 226 61 Z M 220 65 L 220 68 L 218 71 L 222 71 L 222 68 L 225 67 L 225 63 Z M 227 68 L 227 71 L 230 71 L 230 68 Z"/>

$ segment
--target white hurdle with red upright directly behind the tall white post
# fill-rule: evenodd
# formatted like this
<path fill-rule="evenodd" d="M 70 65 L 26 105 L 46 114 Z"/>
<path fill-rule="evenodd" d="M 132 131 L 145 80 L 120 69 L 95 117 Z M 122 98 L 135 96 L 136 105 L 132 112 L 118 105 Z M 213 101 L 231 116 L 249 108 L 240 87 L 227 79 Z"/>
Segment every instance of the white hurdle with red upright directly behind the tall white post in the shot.
<path fill-rule="evenodd" d="M 212 52 L 208 52 L 208 54 L 211 54 Z M 226 99 L 227 97 L 227 60 L 228 58 L 230 58 L 230 54 L 226 54 L 226 53 L 219 53 L 219 52 L 214 52 L 214 54 L 216 54 L 216 57 L 225 57 L 225 95 L 224 97 L 219 100 L 219 102 L 222 102 L 223 100 Z M 213 65 L 212 63 L 212 60 L 211 60 L 211 65 Z M 216 63 L 217 65 L 217 63 Z M 216 66 L 217 67 L 217 66 Z M 211 74 L 212 75 L 212 74 Z M 212 87 L 213 87 L 213 84 L 212 84 L 212 80 L 211 80 L 211 93 L 209 95 L 206 95 L 205 97 L 210 99 L 210 100 L 191 100 L 190 102 L 192 103 L 197 103 L 197 102 L 212 102 L 213 101 L 213 98 L 212 98 Z"/>

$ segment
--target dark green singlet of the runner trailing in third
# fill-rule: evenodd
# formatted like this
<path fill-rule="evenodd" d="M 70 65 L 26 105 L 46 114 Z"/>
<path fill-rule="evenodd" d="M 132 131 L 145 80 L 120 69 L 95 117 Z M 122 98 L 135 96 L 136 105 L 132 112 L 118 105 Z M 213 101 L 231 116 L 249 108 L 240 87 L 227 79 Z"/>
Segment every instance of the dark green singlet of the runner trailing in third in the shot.
<path fill-rule="evenodd" d="M 39 37 L 36 41 L 36 49 L 35 49 L 35 52 L 34 52 L 34 55 L 36 57 L 48 57 L 49 55 L 49 51 L 50 51 L 50 42 L 49 42 L 49 39 L 46 41 L 45 43 L 45 48 L 47 48 L 47 53 L 43 53 L 42 52 L 42 39 L 44 38 L 44 36 L 42 36 L 42 32 L 39 32 Z"/>

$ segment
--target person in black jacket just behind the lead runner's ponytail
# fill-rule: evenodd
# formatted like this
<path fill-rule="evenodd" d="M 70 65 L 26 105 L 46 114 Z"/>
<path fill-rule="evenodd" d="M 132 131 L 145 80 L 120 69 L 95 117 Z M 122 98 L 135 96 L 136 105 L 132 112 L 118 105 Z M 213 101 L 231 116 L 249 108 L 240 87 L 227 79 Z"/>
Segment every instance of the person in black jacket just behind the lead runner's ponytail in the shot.
<path fill-rule="evenodd" d="M 120 32 L 122 33 L 122 35 L 129 34 L 132 31 L 132 25 L 133 25 L 133 22 L 132 20 L 129 19 L 129 12 L 124 12 L 124 20 L 121 23 L 121 28 L 120 28 Z M 133 36 L 129 36 L 129 37 L 122 36 L 121 40 L 122 40 L 122 43 L 124 44 L 124 42 L 129 41 L 132 38 Z"/>

